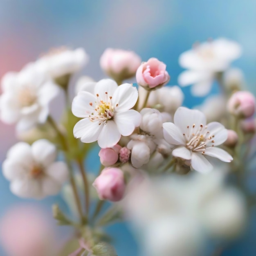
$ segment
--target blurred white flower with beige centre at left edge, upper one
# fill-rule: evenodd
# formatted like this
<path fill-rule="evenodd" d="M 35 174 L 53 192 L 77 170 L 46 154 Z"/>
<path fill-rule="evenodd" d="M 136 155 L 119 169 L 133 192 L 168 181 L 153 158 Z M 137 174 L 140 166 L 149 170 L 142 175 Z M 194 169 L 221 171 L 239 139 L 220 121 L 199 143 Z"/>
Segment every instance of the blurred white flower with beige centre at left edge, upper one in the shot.
<path fill-rule="evenodd" d="M 7 73 L 2 79 L 1 119 L 17 123 L 18 131 L 43 124 L 49 114 L 49 102 L 59 93 L 52 80 L 29 65 L 19 73 Z"/>

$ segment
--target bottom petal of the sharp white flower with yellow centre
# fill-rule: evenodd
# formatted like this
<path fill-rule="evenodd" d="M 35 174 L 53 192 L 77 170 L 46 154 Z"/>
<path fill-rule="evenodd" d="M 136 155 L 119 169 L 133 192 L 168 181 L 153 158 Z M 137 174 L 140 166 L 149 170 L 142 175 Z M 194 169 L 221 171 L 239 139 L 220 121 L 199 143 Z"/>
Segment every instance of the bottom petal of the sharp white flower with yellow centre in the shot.
<path fill-rule="evenodd" d="M 121 139 L 121 133 L 117 129 L 115 121 L 106 121 L 98 138 L 101 148 L 111 148 Z"/>

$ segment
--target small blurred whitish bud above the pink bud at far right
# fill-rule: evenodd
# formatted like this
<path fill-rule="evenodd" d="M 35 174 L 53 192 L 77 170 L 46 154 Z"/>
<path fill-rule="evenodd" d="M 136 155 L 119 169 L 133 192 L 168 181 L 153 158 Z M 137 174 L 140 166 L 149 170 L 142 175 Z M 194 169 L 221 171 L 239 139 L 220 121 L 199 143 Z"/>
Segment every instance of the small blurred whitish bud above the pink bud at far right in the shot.
<path fill-rule="evenodd" d="M 239 68 L 231 68 L 224 74 L 224 85 L 231 91 L 240 90 L 244 83 L 242 70 Z"/>

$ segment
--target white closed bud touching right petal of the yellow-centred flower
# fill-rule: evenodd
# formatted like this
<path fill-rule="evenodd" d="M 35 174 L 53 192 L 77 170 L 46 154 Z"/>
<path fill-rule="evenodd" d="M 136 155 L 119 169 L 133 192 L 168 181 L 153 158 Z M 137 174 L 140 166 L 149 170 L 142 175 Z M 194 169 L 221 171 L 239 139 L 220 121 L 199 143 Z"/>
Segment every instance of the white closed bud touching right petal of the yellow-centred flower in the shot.
<path fill-rule="evenodd" d="M 140 128 L 149 135 L 157 138 L 163 138 L 163 119 L 161 113 L 154 108 L 144 108 L 140 112 Z"/>

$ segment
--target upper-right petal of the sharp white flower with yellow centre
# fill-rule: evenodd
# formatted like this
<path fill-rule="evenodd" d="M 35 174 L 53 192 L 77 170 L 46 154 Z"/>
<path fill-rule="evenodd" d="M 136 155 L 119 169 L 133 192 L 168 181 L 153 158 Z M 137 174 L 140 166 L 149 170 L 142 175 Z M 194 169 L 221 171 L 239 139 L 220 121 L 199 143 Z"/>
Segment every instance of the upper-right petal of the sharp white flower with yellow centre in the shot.
<path fill-rule="evenodd" d="M 113 94 L 112 104 L 116 111 L 125 111 L 132 108 L 138 99 L 138 90 L 130 83 L 120 85 Z M 118 104 L 118 105 L 117 105 Z"/>

